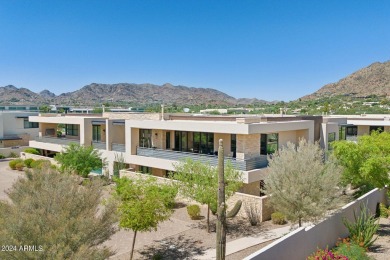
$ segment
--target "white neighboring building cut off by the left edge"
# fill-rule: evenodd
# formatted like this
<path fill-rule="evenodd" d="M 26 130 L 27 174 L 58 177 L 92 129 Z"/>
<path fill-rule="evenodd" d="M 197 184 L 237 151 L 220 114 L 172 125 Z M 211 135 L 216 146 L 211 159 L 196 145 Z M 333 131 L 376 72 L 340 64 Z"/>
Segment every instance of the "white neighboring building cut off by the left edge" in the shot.
<path fill-rule="evenodd" d="M 39 124 L 28 119 L 34 115 L 38 113 L 0 111 L 0 148 L 28 146 L 38 136 Z"/>

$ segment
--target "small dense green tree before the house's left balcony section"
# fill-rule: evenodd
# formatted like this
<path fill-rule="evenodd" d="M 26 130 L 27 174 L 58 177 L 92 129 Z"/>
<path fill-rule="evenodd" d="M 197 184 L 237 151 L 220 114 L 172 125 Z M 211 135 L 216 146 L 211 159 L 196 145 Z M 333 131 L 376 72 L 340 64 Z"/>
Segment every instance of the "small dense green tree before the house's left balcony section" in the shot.
<path fill-rule="evenodd" d="M 94 150 L 92 146 L 82 146 L 74 143 L 71 143 L 64 151 L 57 154 L 54 159 L 61 164 L 60 169 L 62 171 L 76 173 L 82 177 L 87 177 L 92 170 L 104 166 L 100 153 Z"/>

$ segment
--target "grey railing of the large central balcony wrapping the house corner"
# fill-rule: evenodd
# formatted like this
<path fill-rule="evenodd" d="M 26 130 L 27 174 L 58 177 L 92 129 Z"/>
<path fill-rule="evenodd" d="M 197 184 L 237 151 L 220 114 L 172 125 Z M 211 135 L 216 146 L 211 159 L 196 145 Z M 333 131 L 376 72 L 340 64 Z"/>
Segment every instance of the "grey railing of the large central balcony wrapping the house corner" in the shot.
<path fill-rule="evenodd" d="M 190 158 L 194 161 L 200 161 L 202 163 L 210 164 L 211 166 L 218 166 L 218 156 L 215 155 L 188 153 L 188 152 L 163 150 L 157 148 L 145 148 L 145 147 L 137 147 L 137 155 L 166 159 L 166 160 L 173 160 L 173 161 L 185 160 L 187 158 Z M 232 157 L 225 157 L 225 164 L 227 162 L 230 162 L 235 169 L 241 171 L 260 169 L 260 168 L 267 167 L 268 165 L 268 160 L 266 155 L 259 155 L 258 157 L 246 159 L 246 160 L 241 160 Z"/>

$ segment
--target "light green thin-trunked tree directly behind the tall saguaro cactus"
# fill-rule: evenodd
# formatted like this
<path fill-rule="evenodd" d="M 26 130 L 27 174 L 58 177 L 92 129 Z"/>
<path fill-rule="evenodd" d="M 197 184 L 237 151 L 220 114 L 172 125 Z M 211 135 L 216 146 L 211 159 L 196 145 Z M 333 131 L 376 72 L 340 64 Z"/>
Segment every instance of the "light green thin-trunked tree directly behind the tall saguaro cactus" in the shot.
<path fill-rule="evenodd" d="M 171 178 L 178 184 L 183 195 L 207 205 L 207 231 L 210 232 L 209 211 L 216 213 L 218 202 L 218 169 L 198 161 L 187 159 L 175 165 Z M 231 197 L 241 186 L 241 173 L 230 163 L 225 166 L 225 200 Z"/>

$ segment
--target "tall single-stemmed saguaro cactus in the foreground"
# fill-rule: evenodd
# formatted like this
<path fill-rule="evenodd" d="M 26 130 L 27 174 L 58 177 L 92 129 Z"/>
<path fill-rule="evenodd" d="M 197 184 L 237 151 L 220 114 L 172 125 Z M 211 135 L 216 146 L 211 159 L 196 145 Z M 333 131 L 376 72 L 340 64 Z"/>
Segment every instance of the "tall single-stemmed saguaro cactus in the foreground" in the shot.
<path fill-rule="evenodd" d="M 224 180 L 224 153 L 223 141 L 219 139 L 218 148 L 218 211 L 217 211 L 217 238 L 216 259 L 225 260 L 226 255 L 226 207 L 225 207 L 225 180 Z"/>

